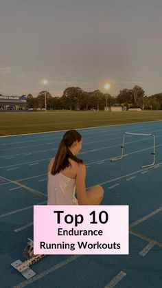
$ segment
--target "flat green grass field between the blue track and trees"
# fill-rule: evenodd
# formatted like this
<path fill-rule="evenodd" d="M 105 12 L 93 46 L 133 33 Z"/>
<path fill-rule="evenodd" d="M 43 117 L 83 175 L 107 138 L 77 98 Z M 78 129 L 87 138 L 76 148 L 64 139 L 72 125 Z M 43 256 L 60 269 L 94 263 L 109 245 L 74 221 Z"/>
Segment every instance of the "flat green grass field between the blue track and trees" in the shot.
<path fill-rule="evenodd" d="M 162 120 L 162 111 L 0 112 L 0 135 Z"/>

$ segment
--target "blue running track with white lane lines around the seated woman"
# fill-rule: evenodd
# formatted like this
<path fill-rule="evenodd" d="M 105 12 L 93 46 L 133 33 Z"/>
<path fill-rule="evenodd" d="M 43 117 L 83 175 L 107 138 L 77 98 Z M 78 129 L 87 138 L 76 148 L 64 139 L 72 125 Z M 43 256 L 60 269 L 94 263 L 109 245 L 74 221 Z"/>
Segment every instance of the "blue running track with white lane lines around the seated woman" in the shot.
<path fill-rule="evenodd" d="M 152 137 L 124 132 L 154 133 Z M 65 131 L 0 137 L 0 287 L 161 288 L 162 287 L 162 122 L 80 129 L 86 164 L 86 187 L 104 188 L 102 205 L 129 205 L 130 254 L 52 255 L 34 264 L 36 276 L 25 280 L 10 264 L 24 260 L 27 237 L 33 234 L 33 205 L 46 204 L 47 166 Z"/>

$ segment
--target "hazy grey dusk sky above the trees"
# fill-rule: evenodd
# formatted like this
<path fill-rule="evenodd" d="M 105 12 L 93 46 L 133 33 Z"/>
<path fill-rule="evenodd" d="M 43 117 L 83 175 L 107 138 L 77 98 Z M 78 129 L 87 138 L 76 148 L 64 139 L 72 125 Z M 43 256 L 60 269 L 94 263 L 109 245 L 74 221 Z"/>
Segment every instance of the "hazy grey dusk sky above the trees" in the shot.
<path fill-rule="evenodd" d="M 161 0 L 1 0 L 0 93 L 162 93 Z"/>

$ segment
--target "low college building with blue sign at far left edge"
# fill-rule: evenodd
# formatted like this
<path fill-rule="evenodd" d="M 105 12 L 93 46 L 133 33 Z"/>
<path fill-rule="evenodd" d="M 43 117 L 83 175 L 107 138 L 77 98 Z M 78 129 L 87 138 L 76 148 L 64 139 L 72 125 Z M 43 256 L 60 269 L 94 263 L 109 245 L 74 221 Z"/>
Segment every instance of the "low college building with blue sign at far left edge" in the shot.
<path fill-rule="evenodd" d="M 15 111 L 28 110 L 26 96 L 2 96 L 0 95 L 0 110 Z"/>

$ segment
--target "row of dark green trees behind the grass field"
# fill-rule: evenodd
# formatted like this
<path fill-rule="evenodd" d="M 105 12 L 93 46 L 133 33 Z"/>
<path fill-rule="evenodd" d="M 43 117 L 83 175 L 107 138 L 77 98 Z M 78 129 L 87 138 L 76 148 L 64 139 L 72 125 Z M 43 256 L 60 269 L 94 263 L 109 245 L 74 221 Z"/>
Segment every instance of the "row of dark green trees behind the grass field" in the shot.
<path fill-rule="evenodd" d="M 132 89 L 123 89 L 119 94 L 112 97 L 100 90 L 92 92 L 83 91 L 80 87 L 68 87 L 61 97 L 52 97 L 48 91 L 41 91 L 36 98 L 27 95 L 27 104 L 32 109 L 45 108 L 45 95 L 48 110 L 104 110 L 106 100 L 108 106 L 122 106 L 125 109 L 141 108 L 150 110 L 162 110 L 162 93 L 146 96 L 142 87 L 135 85 Z"/>

